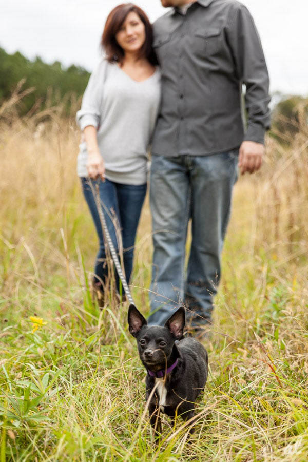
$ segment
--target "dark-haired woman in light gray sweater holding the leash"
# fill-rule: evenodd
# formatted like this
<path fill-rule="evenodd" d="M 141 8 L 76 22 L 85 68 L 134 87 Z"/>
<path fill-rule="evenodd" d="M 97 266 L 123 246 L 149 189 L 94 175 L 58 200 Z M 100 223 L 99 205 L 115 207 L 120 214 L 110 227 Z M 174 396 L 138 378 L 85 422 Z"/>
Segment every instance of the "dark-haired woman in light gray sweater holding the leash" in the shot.
<path fill-rule="evenodd" d="M 100 242 L 93 280 L 99 298 L 104 293 L 108 267 L 93 190 L 98 188 L 112 242 L 121 251 L 120 230 L 129 283 L 146 194 L 147 150 L 160 103 L 152 28 L 142 9 L 131 3 L 115 7 L 107 18 L 101 46 L 105 58 L 91 74 L 77 113 L 83 133 L 78 175 Z"/>

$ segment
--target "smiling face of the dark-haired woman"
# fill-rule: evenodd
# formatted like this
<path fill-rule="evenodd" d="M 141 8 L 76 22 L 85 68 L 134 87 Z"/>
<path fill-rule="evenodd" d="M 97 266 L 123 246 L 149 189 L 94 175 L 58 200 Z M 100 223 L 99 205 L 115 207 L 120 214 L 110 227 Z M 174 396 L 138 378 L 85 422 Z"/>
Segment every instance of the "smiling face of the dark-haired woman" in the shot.
<path fill-rule="evenodd" d="M 125 53 L 134 53 L 141 49 L 145 42 L 145 27 L 136 12 L 128 13 L 115 38 Z"/>

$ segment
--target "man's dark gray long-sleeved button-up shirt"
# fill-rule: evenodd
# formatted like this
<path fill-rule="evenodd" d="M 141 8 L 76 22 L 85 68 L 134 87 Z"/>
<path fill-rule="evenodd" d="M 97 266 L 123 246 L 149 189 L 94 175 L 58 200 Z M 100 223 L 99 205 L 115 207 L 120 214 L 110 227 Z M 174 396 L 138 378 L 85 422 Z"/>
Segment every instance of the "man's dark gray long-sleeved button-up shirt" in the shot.
<path fill-rule="evenodd" d="M 162 102 L 152 153 L 203 156 L 264 142 L 269 79 L 260 38 L 235 0 L 198 0 L 153 25 Z M 246 86 L 244 134 L 242 84 Z"/>

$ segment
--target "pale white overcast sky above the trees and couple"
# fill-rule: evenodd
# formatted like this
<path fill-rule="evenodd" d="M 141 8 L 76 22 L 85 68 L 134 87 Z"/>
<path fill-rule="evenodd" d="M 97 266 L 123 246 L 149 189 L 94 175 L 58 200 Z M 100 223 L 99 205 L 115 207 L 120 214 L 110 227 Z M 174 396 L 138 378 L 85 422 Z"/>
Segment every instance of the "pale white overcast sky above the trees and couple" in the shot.
<path fill-rule="evenodd" d="M 91 71 L 109 11 L 121 0 L 0 0 L 0 47 Z M 138 0 L 151 21 L 160 0 Z M 253 14 L 271 76 L 271 91 L 308 95 L 306 0 L 243 0 Z"/>

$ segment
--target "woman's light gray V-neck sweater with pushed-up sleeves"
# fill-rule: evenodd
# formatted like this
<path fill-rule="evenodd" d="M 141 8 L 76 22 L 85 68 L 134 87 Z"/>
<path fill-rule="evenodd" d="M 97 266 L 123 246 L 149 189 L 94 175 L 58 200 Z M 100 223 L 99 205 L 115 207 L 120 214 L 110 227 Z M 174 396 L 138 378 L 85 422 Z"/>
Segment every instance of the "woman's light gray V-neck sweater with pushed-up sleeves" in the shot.
<path fill-rule="evenodd" d="M 147 152 L 160 104 L 160 70 L 136 82 L 116 63 L 105 59 L 91 74 L 76 120 L 81 128 L 97 128 L 106 178 L 139 185 L 147 180 Z M 87 177 L 87 146 L 82 140 L 78 175 Z"/>

